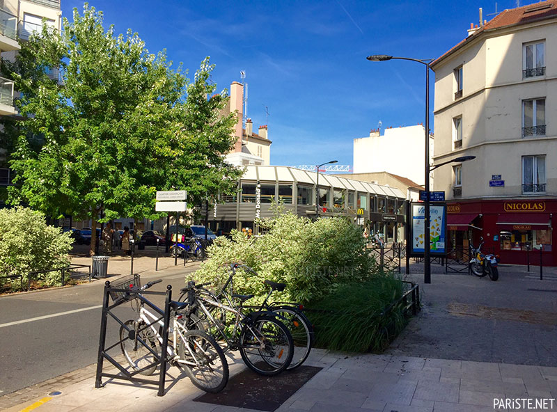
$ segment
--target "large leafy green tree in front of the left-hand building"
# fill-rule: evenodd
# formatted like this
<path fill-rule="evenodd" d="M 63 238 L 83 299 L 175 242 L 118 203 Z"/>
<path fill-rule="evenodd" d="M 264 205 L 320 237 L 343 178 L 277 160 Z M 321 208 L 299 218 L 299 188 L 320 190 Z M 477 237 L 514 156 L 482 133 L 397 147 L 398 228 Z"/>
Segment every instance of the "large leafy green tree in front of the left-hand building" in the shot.
<path fill-rule="evenodd" d="M 102 22 L 86 3 L 61 33 L 43 24 L 15 65 L 4 65 L 24 117 L 10 202 L 91 219 L 93 233 L 97 221 L 157 216 L 157 190 L 186 189 L 197 200 L 226 191 L 239 173 L 223 161 L 235 115 L 219 116 L 226 91 L 207 98 L 216 88 L 208 58 L 189 84 L 164 52 L 149 54 L 136 33 L 116 36 Z"/>

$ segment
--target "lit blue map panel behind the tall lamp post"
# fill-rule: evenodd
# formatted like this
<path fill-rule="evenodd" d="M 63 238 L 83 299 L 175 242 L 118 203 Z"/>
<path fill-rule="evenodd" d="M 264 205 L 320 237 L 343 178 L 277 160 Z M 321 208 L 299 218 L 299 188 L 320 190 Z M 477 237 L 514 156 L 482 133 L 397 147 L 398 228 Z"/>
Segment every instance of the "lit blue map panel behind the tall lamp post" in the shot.
<path fill-rule="evenodd" d="M 425 252 L 425 205 L 411 203 L 409 211 L 409 252 L 413 257 L 421 257 Z M 430 253 L 446 254 L 446 203 L 430 203 Z"/>

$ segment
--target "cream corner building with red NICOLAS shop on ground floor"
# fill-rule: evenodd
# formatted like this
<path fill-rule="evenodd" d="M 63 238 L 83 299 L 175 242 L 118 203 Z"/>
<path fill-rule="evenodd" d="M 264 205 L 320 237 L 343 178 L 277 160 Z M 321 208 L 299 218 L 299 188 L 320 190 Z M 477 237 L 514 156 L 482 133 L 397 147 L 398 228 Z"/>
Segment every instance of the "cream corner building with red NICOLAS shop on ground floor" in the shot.
<path fill-rule="evenodd" d="M 477 246 L 506 263 L 557 264 L 557 1 L 480 20 L 431 63 L 435 72 L 434 171 L 448 200 L 453 246 Z M 534 258 L 533 258 L 534 259 Z"/>

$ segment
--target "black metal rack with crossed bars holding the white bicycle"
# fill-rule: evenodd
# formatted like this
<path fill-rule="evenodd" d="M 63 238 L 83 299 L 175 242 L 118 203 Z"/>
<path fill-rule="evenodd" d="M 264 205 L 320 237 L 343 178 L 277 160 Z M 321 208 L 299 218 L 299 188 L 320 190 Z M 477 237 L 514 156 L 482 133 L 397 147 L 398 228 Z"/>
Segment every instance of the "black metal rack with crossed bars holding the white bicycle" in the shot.
<path fill-rule="evenodd" d="M 123 296 L 123 298 L 121 298 L 118 301 L 115 301 L 114 303 L 109 305 L 109 300 L 110 300 L 109 297 L 110 297 L 111 292 L 121 293 L 124 296 Z M 155 306 L 154 303 L 151 303 L 150 301 L 148 301 L 148 299 L 146 299 L 144 296 L 142 296 L 143 294 L 165 295 L 166 299 L 165 299 L 165 302 L 164 302 L 164 311 L 162 311 L 160 308 Z M 166 292 L 151 292 L 151 291 L 148 291 L 148 290 L 144 290 L 144 291 L 141 291 L 141 293 L 139 293 L 138 291 L 135 291 L 135 290 L 122 289 L 120 287 L 111 287 L 110 282 L 108 280 L 107 280 L 106 283 L 104 283 L 104 298 L 103 298 L 103 301 L 102 301 L 102 318 L 101 318 L 101 322 L 100 322 L 99 352 L 98 352 L 98 356 L 97 356 L 97 374 L 96 374 L 96 378 L 95 378 L 95 388 L 100 388 L 102 386 L 102 378 L 107 377 L 107 378 L 111 378 L 111 379 L 122 379 L 122 380 L 125 380 L 125 381 L 132 381 L 132 382 L 136 382 L 136 383 L 146 383 L 147 385 L 156 385 L 158 390 L 159 390 L 157 395 L 164 396 L 164 385 L 165 385 L 166 364 L 167 364 L 166 349 L 168 347 L 168 326 L 170 324 L 171 297 L 172 297 L 172 286 L 171 285 L 168 285 L 166 287 Z M 141 301 L 141 303 L 146 304 L 147 306 L 149 306 L 149 308 L 151 308 L 152 310 L 154 310 L 156 313 L 158 313 L 160 315 L 160 317 L 157 320 L 153 321 L 152 324 L 155 324 L 156 322 L 159 322 L 159 320 L 164 319 L 164 321 L 163 321 L 164 326 L 163 326 L 163 329 L 162 329 L 161 354 L 157 354 L 157 352 L 155 352 L 152 348 L 150 348 L 145 342 L 142 342 L 140 339 L 138 339 L 137 341 L 139 343 L 141 343 L 144 347 L 149 349 L 150 352 L 152 352 L 152 355 L 155 357 L 156 361 L 151 363 L 150 365 L 147 365 L 147 366 L 141 368 L 141 370 L 136 370 L 136 371 L 127 370 L 124 365 L 120 365 L 120 363 L 118 363 L 118 361 L 116 361 L 112 356 L 110 356 L 108 354 L 109 350 L 111 350 L 114 347 L 120 345 L 121 342 L 123 342 L 123 340 L 118 340 L 118 342 L 116 342 L 115 344 L 112 344 L 111 346 L 106 347 L 108 317 L 109 316 L 112 317 L 112 319 L 116 320 L 116 322 L 118 322 L 118 324 L 120 324 L 120 326 L 123 326 L 124 328 L 127 329 L 127 326 L 125 326 L 125 324 L 124 324 L 125 321 L 122 321 L 122 320 L 118 319 L 118 317 L 112 312 L 112 310 L 114 308 L 122 305 L 123 303 L 129 303 L 133 299 L 139 299 L 139 301 Z M 127 329 L 127 330 L 130 331 L 129 329 Z M 128 338 L 125 338 L 125 339 L 128 339 Z M 115 366 L 120 371 L 120 373 L 110 374 L 110 373 L 102 372 L 104 359 L 107 359 L 107 361 L 109 361 L 109 363 L 111 363 L 113 366 Z M 136 374 L 139 374 L 140 372 L 143 372 L 143 370 L 146 370 L 149 367 L 152 367 L 153 365 L 160 365 L 160 368 L 159 368 L 160 372 L 159 372 L 158 382 L 154 381 L 152 379 L 143 379 L 143 378 L 136 377 Z"/>

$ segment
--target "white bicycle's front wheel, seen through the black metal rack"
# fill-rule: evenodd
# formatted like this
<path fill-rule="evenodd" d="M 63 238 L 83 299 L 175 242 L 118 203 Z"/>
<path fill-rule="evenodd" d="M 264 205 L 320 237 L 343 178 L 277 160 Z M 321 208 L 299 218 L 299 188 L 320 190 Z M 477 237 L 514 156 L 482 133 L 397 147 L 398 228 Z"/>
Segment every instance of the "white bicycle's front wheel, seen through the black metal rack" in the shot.
<path fill-rule="evenodd" d="M 120 347 L 122 353 L 126 358 L 127 363 L 130 364 L 133 370 L 141 370 L 143 367 L 150 365 L 151 363 L 157 362 L 157 356 L 152 354 L 152 352 L 134 336 L 137 330 L 141 330 L 146 327 L 146 324 L 141 322 L 134 329 L 134 320 L 130 319 L 125 322 L 127 329 L 124 326 L 120 326 Z M 161 346 L 159 340 L 155 336 L 155 333 L 150 328 L 146 328 L 138 333 L 138 338 L 141 338 L 143 342 L 149 345 L 149 347 L 155 351 L 156 354 L 161 354 Z M 150 375 L 157 369 L 157 364 L 147 367 L 145 370 L 139 372 L 142 375 Z"/>

